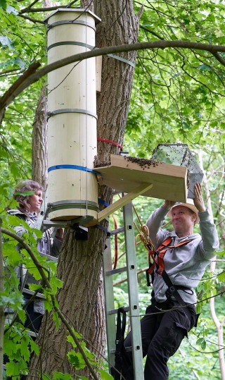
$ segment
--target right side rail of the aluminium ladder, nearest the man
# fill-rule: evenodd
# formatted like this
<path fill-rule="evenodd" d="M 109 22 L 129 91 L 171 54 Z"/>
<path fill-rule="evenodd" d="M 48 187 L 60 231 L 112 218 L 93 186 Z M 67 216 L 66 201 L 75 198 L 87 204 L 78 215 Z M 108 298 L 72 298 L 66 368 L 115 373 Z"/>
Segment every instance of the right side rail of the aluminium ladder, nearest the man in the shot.
<path fill-rule="evenodd" d="M 123 207 L 134 379 L 144 380 L 132 203 Z"/>

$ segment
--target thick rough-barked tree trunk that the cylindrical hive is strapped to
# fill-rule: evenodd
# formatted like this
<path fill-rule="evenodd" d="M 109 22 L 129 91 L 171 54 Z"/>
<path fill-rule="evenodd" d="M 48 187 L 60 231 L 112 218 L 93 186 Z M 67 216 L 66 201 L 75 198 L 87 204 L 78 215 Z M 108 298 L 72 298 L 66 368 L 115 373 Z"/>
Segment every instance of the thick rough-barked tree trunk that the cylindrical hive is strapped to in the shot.
<path fill-rule="evenodd" d="M 131 1 L 125 2 L 125 6 L 122 0 L 94 1 L 94 12 L 102 19 L 97 27 L 98 47 L 137 41 L 139 18 L 134 15 Z M 134 51 L 121 56 L 133 63 L 136 60 Z M 133 75 L 134 68 L 129 63 L 103 57 L 102 88 L 97 98 L 98 137 L 122 145 Z M 120 148 L 115 145 L 98 142 L 98 161 L 108 161 L 110 154 L 119 151 Z M 101 186 L 98 196 L 110 203 L 112 189 Z M 107 226 L 108 222 L 104 220 L 102 224 Z M 63 288 L 58 293 L 60 309 L 75 331 L 82 333 L 89 343 L 89 349 L 99 357 L 104 355 L 105 350 L 105 324 L 98 322 L 103 316 L 103 297 L 99 299 L 100 303 L 96 299 L 105 235 L 98 228 L 89 228 L 89 240 L 77 241 L 73 238 L 72 230 L 65 231 L 58 262 L 58 277 L 63 280 Z M 43 373 L 59 371 L 75 374 L 66 357 L 71 348 L 66 336 L 67 331 L 63 326 L 57 331 L 53 320 L 46 319 L 39 333 L 43 347 L 41 362 L 39 357 L 34 357 L 31 367 L 37 371 L 41 364 Z M 90 379 L 87 371 L 79 371 L 79 374 L 86 374 Z"/>

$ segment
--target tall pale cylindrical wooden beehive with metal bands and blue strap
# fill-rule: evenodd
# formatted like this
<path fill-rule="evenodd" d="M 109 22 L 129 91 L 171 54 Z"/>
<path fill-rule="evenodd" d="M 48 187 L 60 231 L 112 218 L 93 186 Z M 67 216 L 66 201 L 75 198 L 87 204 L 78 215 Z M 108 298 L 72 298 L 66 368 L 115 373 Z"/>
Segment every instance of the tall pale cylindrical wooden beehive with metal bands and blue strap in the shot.
<path fill-rule="evenodd" d="M 94 13 L 62 9 L 47 19 L 48 63 L 95 46 Z M 48 76 L 49 219 L 98 213 L 96 173 L 96 59 L 72 63 Z"/>

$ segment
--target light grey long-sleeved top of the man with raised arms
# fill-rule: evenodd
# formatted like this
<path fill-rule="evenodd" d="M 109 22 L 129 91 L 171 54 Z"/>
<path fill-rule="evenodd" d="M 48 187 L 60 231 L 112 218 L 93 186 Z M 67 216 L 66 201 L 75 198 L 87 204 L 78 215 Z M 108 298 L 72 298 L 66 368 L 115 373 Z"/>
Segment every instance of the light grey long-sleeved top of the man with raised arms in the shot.
<path fill-rule="evenodd" d="M 198 286 L 205 272 L 205 267 L 210 264 L 210 259 L 214 257 L 214 252 L 219 248 L 216 226 L 207 210 L 205 212 L 199 212 L 201 235 L 199 233 L 193 233 L 192 235 L 179 238 L 175 231 L 169 232 L 161 228 L 167 212 L 166 207 L 161 206 L 149 217 L 146 223 L 149 228 L 149 236 L 155 250 L 157 250 L 162 242 L 169 238 L 169 236 L 172 238 L 172 242 L 169 245 L 176 245 L 184 240 L 191 240 L 191 242 L 186 245 L 168 249 L 165 253 L 164 263 L 165 271 L 174 285 L 192 288 L 193 292 L 179 290 L 184 302 L 195 303 L 197 298 L 193 288 Z M 158 302 L 164 302 L 166 300 L 165 292 L 167 285 L 162 276 L 156 273 L 153 289 L 155 299 Z"/>

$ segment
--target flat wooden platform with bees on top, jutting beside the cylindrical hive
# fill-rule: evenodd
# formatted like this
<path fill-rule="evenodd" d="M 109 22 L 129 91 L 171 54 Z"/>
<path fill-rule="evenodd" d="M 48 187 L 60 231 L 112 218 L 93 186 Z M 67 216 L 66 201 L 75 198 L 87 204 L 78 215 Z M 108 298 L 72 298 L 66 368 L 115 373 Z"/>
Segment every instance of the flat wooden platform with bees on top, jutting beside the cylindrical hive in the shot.
<path fill-rule="evenodd" d="M 112 154 L 108 166 L 95 169 L 100 185 L 119 192 L 132 192 L 141 183 L 153 183 L 153 188 L 143 193 L 146 197 L 186 202 L 188 193 L 187 168 Z"/>

